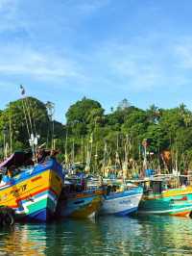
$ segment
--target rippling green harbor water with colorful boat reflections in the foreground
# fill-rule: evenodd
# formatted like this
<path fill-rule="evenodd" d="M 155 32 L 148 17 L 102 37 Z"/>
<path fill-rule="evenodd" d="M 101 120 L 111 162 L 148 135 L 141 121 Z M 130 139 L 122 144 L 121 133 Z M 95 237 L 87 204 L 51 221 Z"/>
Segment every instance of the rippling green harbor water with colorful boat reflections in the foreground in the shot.
<path fill-rule="evenodd" d="M 103 217 L 0 230 L 0 255 L 192 255 L 192 219 Z"/>

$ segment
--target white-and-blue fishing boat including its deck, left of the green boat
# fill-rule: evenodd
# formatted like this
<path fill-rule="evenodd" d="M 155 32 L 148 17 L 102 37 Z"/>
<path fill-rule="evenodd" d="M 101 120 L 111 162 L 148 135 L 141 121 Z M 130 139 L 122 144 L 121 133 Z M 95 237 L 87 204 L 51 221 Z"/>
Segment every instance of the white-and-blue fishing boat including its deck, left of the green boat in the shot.
<path fill-rule="evenodd" d="M 143 189 L 127 184 L 112 183 L 107 186 L 100 215 L 127 216 L 137 211 Z"/>

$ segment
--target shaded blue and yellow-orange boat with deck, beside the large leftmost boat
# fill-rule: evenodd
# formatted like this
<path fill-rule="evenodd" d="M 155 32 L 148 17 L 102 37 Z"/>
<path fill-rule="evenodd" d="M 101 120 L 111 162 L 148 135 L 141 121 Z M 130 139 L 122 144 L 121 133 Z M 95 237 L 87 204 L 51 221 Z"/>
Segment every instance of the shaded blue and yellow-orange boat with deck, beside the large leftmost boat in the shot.
<path fill-rule="evenodd" d="M 103 190 L 85 178 L 66 179 L 60 194 L 58 216 L 60 218 L 95 217 L 101 207 Z"/>

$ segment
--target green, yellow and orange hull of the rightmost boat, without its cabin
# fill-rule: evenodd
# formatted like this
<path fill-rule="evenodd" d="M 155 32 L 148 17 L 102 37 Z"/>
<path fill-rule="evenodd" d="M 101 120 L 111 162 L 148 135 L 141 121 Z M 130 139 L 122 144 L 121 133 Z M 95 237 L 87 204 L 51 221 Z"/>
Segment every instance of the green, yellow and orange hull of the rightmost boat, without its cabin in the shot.
<path fill-rule="evenodd" d="M 139 214 L 188 217 L 192 212 L 192 187 L 168 190 L 161 194 L 144 195 Z"/>

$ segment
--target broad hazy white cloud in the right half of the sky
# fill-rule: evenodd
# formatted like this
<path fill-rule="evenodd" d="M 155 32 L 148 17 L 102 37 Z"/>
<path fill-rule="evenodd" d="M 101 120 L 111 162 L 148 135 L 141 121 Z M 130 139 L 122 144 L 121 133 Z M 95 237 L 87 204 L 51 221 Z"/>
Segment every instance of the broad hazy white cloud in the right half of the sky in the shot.
<path fill-rule="evenodd" d="M 107 41 L 91 55 L 93 73 L 95 63 L 100 66 L 100 81 L 108 77 L 111 87 L 124 91 L 175 90 L 187 86 L 191 77 L 186 68 L 180 68 L 175 44 L 173 38 L 160 33 L 132 38 L 129 42 Z M 192 47 L 187 51 L 185 46 L 180 47 L 185 67 L 192 66 L 191 50 Z"/>

